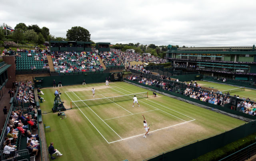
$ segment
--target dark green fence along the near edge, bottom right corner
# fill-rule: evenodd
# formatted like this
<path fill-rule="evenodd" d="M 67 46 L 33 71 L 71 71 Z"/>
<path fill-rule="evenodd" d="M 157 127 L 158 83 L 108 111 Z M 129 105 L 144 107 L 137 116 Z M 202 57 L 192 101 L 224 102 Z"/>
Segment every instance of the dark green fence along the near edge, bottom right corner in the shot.
<path fill-rule="evenodd" d="M 193 141 L 181 147 L 155 155 L 146 160 L 150 161 L 189 161 L 197 158 L 212 150 L 223 147 L 238 139 L 246 137 L 256 132 L 256 121 L 248 122 L 236 127 L 230 131 L 225 131 L 218 135 L 211 136 L 200 140 Z"/>

